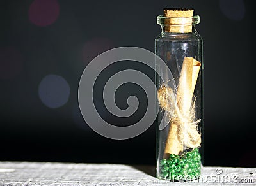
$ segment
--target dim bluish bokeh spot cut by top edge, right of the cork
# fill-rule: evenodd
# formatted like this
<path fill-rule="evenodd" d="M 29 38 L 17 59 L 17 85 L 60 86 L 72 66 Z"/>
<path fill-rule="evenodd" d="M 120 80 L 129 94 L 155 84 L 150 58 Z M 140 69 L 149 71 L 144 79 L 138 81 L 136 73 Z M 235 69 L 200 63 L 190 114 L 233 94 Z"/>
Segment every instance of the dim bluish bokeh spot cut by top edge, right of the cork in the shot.
<path fill-rule="evenodd" d="M 220 0 L 222 13 L 231 20 L 242 20 L 245 14 L 243 0 Z"/>

